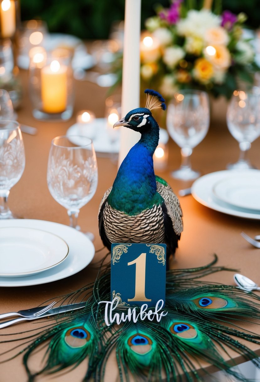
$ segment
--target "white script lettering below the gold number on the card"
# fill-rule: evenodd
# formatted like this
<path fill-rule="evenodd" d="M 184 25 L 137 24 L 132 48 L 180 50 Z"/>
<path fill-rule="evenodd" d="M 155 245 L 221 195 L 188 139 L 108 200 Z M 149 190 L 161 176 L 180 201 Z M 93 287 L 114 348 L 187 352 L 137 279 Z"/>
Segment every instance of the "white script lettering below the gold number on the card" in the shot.
<path fill-rule="evenodd" d="M 114 321 L 116 321 L 117 325 L 119 325 L 121 322 L 125 322 L 127 320 L 129 322 L 131 320 L 133 320 L 133 322 L 137 322 L 138 319 L 143 321 L 146 318 L 150 321 L 156 318 L 157 322 L 160 322 L 161 318 L 168 314 L 168 312 L 165 311 L 160 312 L 160 310 L 164 306 L 163 300 L 157 301 L 154 312 L 151 309 L 148 312 L 146 312 L 148 309 L 148 305 L 143 304 L 140 308 L 139 313 L 136 312 L 136 308 L 128 308 L 127 313 L 114 313 L 113 311 L 117 308 L 117 305 L 119 304 L 119 299 L 117 297 L 115 297 L 113 301 L 100 301 L 98 304 L 102 303 L 106 304 L 105 323 L 107 326 L 110 326 Z"/>

